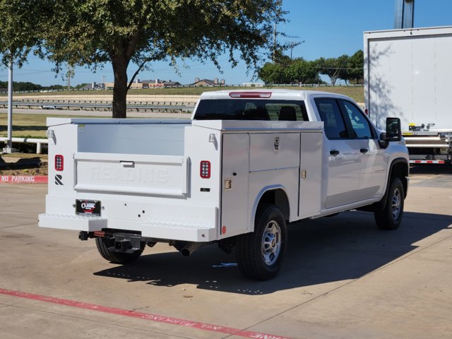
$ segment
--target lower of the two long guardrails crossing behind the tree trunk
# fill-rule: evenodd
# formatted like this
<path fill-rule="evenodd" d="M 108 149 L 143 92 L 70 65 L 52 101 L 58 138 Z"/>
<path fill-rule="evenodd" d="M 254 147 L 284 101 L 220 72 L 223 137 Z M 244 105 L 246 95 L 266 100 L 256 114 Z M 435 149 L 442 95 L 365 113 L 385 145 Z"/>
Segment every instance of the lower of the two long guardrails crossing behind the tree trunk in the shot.
<path fill-rule="evenodd" d="M 0 101 L 0 107 L 8 107 L 8 102 L 6 101 Z M 20 102 L 20 101 L 14 101 L 13 107 L 37 107 L 40 109 L 61 109 L 61 108 L 79 108 L 79 109 L 112 109 L 112 104 L 91 104 L 91 103 L 77 103 L 77 102 Z M 148 110 L 148 111 L 180 111 L 180 112 L 191 112 L 194 109 L 194 106 L 189 105 L 127 105 L 128 110 Z"/>

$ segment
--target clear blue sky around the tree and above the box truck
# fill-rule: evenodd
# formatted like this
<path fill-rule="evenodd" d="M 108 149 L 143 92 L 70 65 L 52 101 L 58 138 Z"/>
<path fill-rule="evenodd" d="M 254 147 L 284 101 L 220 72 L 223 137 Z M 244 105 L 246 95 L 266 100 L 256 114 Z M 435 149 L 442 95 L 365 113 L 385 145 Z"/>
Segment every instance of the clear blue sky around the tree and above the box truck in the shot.
<path fill-rule="evenodd" d="M 362 49 L 362 32 L 367 30 L 393 29 L 396 0 L 283 0 L 283 8 L 288 11 L 288 22 L 278 26 L 278 31 L 293 37 L 290 41 L 304 43 L 295 47 L 292 57 L 304 57 L 314 60 L 319 57 L 339 57 L 353 54 Z M 415 0 L 415 27 L 452 25 L 452 1 Z M 179 81 L 182 84 L 193 83 L 194 78 L 224 78 L 227 84 L 240 84 L 251 81 L 251 73 L 246 75 L 246 66 L 239 63 L 231 69 L 227 57 L 220 57 L 223 73 L 219 73 L 211 63 L 201 64 L 187 60 L 181 67 L 181 75 L 166 62 L 153 65 L 153 71 L 144 71 L 138 75 L 142 80 L 165 79 Z M 136 67 L 129 66 L 129 76 Z M 113 81 L 113 72 L 109 64 L 103 70 L 93 73 L 85 68 L 76 69 L 72 85 L 78 83 Z M 14 70 L 14 81 L 31 81 L 41 85 L 66 84 L 61 76 L 55 78 L 52 64 L 30 57 L 22 69 Z M 7 81 L 8 72 L 0 68 L 0 81 Z"/>

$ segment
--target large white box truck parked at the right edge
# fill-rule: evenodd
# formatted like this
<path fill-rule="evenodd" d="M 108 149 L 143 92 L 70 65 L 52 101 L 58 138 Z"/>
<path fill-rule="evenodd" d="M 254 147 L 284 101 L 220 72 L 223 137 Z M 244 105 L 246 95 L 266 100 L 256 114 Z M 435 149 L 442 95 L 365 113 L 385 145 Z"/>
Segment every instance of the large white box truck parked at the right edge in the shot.
<path fill-rule="evenodd" d="M 365 108 L 399 117 L 412 163 L 452 160 L 452 27 L 364 32 Z"/>

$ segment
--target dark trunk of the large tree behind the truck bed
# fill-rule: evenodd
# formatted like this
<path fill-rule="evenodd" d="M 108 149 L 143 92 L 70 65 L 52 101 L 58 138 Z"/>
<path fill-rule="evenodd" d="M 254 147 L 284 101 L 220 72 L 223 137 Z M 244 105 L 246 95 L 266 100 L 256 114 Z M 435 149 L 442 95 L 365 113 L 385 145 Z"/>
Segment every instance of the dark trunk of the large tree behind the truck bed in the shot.
<path fill-rule="evenodd" d="M 115 57 L 112 60 L 114 73 L 113 87 L 113 118 L 126 118 L 127 101 L 127 62 L 125 57 Z"/>

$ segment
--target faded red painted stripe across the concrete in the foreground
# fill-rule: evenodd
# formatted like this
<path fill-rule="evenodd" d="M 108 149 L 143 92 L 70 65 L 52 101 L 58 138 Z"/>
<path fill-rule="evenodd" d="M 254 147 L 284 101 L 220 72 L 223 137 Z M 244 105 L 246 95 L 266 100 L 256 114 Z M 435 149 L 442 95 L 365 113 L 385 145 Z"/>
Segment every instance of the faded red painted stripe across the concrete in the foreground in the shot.
<path fill-rule="evenodd" d="M 126 309 L 117 309 L 114 307 L 101 306 L 96 304 L 88 304 L 85 302 L 75 302 L 69 299 L 60 299 L 54 297 L 46 297 L 45 295 L 33 295 L 32 293 L 19 292 L 13 290 L 5 290 L 0 288 L 1 295 L 11 295 L 13 297 L 20 297 L 24 299 L 32 299 L 40 302 L 50 302 L 53 304 L 59 304 L 69 307 L 78 307 L 81 309 L 89 309 L 91 311 L 99 311 L 111 314 L 118 314 L 120 316 L 131 316 L 133 318 L 140 318 L 148 321 L 156 321 L 159 323 L 171 323 L 173 325 L 186 326 L 191 328 L 198 328 L 204 331 L 213 331 L 219 333 L 226 333 L 231 335 L 239 335 L 244 338 L 254 338 L 254 339 L 290 339 L 287 337 L 280 337 L 279 335 L 271 335 L 266 333 L 258 333 L 251 331 L 242 331 L 238 328 L 224 327 L 213 325 L 211 323 L 199 323 L 197 321 L 189 321 L 184 319 L 172 318 L 169 316 L 158 316 L 156 314 L 127 311 Z"/>

